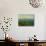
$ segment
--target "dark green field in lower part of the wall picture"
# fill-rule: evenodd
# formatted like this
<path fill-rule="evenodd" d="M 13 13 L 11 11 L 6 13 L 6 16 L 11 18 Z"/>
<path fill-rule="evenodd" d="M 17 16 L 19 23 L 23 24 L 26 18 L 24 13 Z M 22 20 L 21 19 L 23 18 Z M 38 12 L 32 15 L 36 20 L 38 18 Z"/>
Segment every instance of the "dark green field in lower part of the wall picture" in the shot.
<path fill-rule="evenodd" d="M 19 19 L 19 26 L 34 26 L 34 19 Z"/>

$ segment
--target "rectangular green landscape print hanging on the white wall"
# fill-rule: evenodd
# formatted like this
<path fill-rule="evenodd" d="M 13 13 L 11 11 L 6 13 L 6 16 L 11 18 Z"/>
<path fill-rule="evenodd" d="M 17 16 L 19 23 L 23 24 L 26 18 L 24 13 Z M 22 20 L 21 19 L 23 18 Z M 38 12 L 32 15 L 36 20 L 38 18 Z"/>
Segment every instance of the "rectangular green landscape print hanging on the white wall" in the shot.
<path fill-rule="evenodd" d="M 34 15 L 33 14 L 18 15 L 18 26 L 34 26 Z"/>

